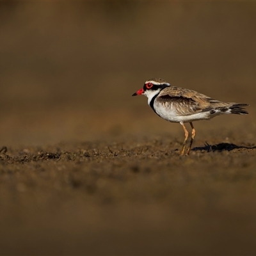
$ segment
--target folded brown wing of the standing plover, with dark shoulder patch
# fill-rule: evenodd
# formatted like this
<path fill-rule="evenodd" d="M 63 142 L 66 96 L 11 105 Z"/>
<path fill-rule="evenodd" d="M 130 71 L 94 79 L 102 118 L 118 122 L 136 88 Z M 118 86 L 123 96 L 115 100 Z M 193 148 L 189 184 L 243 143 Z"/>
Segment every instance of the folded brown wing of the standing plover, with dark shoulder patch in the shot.
<path fill-rule="evenodd" d="M 175 86 L 164 88 L 157 96 L 157 101 L 175 108 L 178 115 L 191 115 L 230 106 L 228 103 L 214 100 L 202 93 Z"/>

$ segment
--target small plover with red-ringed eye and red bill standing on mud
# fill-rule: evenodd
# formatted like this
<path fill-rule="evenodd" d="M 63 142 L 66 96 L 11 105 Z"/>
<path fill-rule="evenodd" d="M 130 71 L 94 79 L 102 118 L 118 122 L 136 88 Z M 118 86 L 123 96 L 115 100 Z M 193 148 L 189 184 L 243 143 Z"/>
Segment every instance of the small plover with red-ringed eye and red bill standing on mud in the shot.
<path fill-rule="evenodd" d="M 191 140 L 186 152 L 186 155 L 189 155 L 196 136 L 194 121 L 210 120 L 223 114 L 248 114 L 244 107 L 249 104 L 221 102 L 193 90 L 171 86 L 162 78 L 148 79 L 143 88 L 132 94 L 132 96 L 136 95 L 145 95 L 148 98 L 148 105 L 161 118 L 182 125 L 185 138 L 180 155 L 184 155 L 189 136 L 184 123 L 189 123 L 192 129 Z"/>

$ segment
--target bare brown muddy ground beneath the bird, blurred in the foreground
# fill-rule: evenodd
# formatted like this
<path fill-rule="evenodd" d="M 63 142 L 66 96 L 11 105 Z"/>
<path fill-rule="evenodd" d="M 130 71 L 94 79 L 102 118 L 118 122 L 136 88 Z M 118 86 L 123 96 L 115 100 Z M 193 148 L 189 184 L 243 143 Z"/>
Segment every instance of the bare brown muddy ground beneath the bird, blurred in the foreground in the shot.
<path fill-rule="evenodd" d="M 1 253 L 253 255 L 253 129 L 217 126 L 189 157 L 171 133 L 3 149 Z"/>

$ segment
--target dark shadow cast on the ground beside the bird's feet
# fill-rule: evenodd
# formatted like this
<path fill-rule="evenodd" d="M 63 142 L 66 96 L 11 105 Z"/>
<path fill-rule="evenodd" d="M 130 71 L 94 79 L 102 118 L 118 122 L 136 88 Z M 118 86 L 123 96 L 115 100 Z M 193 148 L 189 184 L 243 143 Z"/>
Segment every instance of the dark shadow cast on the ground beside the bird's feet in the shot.
<path fill-rule="evenodd" d="M 221 151 L 232 151 L 234 149 L 255 149 L 255 147 L 245 147 L 245 146 L 237 146 L 233 143 L 218 143 L 215 145 L 209 145 L 208 143 L 205 143 L 204 147 L 195 147 L 191 150 L 193 151 L 201 151 L 205 150 L 207 152 L 221 152 Z"/>

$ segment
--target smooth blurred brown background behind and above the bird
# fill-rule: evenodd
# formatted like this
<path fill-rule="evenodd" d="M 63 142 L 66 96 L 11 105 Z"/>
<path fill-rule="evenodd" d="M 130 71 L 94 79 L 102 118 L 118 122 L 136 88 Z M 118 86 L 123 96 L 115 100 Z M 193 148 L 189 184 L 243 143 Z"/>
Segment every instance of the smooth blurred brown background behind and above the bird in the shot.
<path fill-rule="evenodd" d="M 2 145 L 182 136 L 131 97 L 152 77 L 255 113 L 255 2 L 10 1 L 0 14 Z"/>

